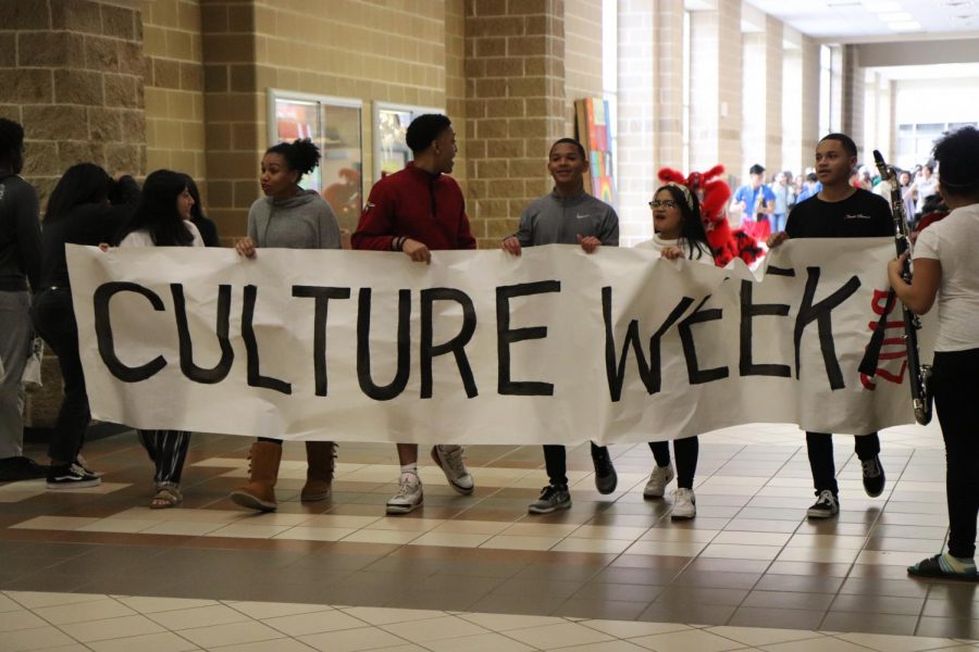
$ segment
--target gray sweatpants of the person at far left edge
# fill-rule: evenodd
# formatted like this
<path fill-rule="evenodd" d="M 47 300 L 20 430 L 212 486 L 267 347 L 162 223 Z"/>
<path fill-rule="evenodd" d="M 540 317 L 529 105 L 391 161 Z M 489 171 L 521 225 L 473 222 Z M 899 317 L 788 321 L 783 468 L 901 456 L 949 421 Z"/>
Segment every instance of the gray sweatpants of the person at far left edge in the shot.
<path fill-rule="evenodd" d="M 0 460 L 24 452 L 24 365 L 34 336 L 30 293 L 0 290 Z"/>

